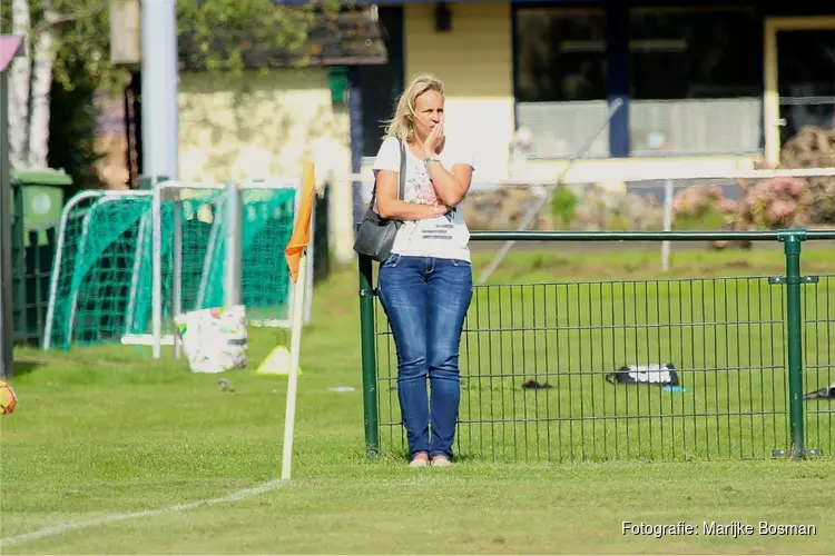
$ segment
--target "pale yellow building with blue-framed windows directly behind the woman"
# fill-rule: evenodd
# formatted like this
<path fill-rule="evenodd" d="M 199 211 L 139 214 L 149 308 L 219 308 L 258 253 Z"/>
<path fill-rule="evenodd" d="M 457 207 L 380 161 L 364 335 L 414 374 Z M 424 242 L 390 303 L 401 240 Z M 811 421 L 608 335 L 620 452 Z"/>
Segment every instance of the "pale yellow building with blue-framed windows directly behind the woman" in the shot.
<path fill-rule="evenodd" d="M 376 9 L 389 61 L 353 73 L 363 167 L 396 92 L 421 72 L 445 82 L 448 130 L 471 138 L 485 180 L 511 173 L 518 130 L 528 175 L 553 175 L 595 137 L 572 176 L 607 180 L 669 165 L 774 166 L 798 129 L 829 128 L 835 116 L 835 8 L 826 3 L 404 0 Z"/>

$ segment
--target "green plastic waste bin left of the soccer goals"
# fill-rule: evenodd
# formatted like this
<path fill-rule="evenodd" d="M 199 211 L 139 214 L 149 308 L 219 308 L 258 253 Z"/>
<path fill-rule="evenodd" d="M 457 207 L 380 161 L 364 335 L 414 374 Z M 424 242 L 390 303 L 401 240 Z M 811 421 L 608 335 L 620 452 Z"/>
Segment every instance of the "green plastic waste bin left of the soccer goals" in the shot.
<path fill-rule="evenodd" d="M 12 322 L 16 344 L 42 344 L 61 211 L 72 190 L 63 170 L 12 170 Z"/>

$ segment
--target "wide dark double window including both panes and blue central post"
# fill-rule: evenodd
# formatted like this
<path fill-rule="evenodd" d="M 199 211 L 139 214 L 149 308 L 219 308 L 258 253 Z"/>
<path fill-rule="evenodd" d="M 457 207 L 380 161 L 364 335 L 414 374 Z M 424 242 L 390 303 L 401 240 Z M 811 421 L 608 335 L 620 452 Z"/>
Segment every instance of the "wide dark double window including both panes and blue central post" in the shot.
<path fill-rule="evenodd" d="M 529 156 L 576 152 L 606 118 L 607 99 L 621 96 L 628 117 L 612 118 L 588 155 L 609 155 L 610 137 L 616 152 L 637 156 L 762 150 L 756 8 L 515 6 L 514 38 Z"/>

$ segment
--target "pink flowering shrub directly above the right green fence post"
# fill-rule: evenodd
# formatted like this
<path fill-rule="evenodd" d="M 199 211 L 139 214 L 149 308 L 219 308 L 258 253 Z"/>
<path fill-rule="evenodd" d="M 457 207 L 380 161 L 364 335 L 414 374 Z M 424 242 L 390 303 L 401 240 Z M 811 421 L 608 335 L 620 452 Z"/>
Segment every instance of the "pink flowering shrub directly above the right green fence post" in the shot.
<path fill-rule="evenodd" d="M 814 196 L 797 178 L 773 178 L 746 188 L 741 220 L 755 228 L 785 228 L 808 225 Z"/>

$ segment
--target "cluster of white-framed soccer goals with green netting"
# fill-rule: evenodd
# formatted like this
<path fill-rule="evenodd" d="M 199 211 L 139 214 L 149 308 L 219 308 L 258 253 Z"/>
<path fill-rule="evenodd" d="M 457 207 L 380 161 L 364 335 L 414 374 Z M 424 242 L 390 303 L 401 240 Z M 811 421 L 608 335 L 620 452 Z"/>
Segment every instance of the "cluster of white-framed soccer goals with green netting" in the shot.
<path fill-rule="evenodd" d="M 61 215 L 43 349 L 112 341 L 153 346 L 158 358 L 160 346 L 176 344 L 176 315 L 237 304 L 249 326 L 288 328 L 294 285 L 283 250 L 299 185 L 173 181 L 80 192 Z"/>

